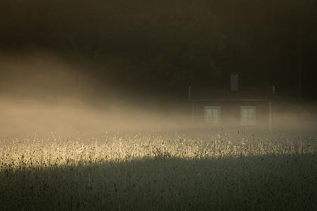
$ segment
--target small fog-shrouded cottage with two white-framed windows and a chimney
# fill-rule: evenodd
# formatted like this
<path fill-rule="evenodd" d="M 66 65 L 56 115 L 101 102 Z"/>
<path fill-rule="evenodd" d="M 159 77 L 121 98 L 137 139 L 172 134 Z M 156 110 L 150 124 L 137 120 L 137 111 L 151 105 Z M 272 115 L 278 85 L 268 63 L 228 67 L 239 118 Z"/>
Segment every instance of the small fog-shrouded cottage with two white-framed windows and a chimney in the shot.
<path fill-rule="evenodd" d="M 239 87 L 237 73 L 231 74 L 230 81 L 231 87 L 189 87 L 192 122 L 206 127 L 271 130 L 275 87 Z"/>

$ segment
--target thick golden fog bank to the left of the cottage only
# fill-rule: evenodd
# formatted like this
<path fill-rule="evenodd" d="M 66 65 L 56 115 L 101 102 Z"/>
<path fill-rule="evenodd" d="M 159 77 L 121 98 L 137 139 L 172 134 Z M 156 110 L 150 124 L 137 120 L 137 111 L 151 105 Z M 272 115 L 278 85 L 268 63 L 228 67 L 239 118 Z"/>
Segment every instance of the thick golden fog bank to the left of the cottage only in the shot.
<path fill-rule="evenodd" d="M 159 108 L 155 97 L 123 93 L 110 81 L 99 89 L 89 69 L 49 53 L 2 57 L 0 69 L 1 134 L 93 134 L 187 124 L 179 110 Z"/>

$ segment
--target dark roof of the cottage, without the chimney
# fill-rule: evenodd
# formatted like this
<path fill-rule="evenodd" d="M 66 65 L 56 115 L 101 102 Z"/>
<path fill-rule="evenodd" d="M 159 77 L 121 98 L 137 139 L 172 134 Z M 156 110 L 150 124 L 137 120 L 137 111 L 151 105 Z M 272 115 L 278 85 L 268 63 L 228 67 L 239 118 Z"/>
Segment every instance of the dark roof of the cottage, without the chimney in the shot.
<path fill-rule="evenodd" d="M 191 87 L 191 100 L 240 100 L 273 98 L 273 87 L 239 87 L 231 91 L 230 87 Z"/>

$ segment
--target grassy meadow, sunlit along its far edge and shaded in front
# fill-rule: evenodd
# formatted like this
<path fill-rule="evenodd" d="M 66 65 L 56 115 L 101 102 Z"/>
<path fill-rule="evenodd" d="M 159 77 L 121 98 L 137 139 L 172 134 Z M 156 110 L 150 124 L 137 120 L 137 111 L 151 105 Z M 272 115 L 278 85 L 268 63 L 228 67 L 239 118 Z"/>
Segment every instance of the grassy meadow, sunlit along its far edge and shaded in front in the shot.
<path fill-rule="evenodd" d="M 0 210 L 317 210 L 316 134 L 3 137 Z"/>

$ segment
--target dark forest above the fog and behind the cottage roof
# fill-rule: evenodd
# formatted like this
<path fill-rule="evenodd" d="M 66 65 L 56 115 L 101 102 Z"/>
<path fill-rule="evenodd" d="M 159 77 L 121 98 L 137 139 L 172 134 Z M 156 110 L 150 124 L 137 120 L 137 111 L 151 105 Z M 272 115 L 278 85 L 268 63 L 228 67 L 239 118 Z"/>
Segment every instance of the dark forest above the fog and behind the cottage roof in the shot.
<path fill-rule="evenodd" d="M 316 95 L 313 0 L 2 0 L 0 11 L 2 51 L 99 60 L 113 68 L 92 75 L 123 86 L 169 92 L 239 72 L 284 94 L 302 75 L 304 96 Z"/>

